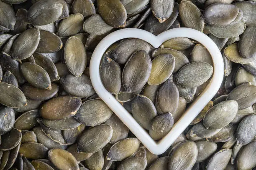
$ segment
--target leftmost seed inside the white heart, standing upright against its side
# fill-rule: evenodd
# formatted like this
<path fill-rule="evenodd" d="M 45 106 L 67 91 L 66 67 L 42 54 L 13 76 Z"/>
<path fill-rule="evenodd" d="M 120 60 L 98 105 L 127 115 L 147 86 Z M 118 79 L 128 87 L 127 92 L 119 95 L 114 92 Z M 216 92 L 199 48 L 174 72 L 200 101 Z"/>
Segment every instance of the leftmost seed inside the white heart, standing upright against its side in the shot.
<path fill-rule="evenodd" d="M 109 57 L 104 57 L 100 64 L 100 78 L 108 92 L 118 94 L 122 85 L 122 70 L 118 63 Z"/>

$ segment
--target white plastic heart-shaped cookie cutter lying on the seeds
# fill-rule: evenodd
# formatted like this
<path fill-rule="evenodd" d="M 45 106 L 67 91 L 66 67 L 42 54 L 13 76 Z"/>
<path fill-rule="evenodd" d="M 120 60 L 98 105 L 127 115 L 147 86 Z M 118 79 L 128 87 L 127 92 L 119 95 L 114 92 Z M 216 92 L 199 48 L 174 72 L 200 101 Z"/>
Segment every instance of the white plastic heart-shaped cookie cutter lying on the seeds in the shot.
<path fill-rule="evenodd" d="M 103 86 L 100 79 L 100 60 L 104 52 L 118 40 L 124 38 L 139 38 L 158 48 L 166 40 L 175 37 L 187 37 L 200 42 L 212 55 L 213 76 L 205 90 L 192 102 L 182 117 L 174 124 L 172 130 L 161 140 L 155 141 L 136 122 L 133 116 L 110 94 Z M 207 105 L 212 97 L 218 92 L 223 81 L 224 64 L 223 58 L 217 45 L 204 33 L 190 28 L 174 28 L 162 32 L 158 36 L 145 30 L 126 28 L 115 31 L 106 36 L 95 48 L 90 62 L 90 78 L 92 85 L 100 98 L 110 107 L 111 110 L 124 122 L 131 132 L 143 143 L 143 145 L 153 154 L 160 155 L 164 153 L 187 126 L 195 119 L 199 112 Z"/>

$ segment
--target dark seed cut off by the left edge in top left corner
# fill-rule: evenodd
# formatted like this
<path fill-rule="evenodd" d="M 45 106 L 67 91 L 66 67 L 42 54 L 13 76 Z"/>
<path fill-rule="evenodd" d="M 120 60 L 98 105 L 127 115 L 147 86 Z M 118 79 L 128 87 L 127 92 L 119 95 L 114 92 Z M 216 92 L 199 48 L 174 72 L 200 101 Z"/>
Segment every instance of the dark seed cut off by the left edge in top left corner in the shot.
<path fill-rule="evenodd" d="M 10 31 L 13 30 L 15 25 L 15 11 L 13 7 L 3 1 L 0 2 L 2 14 L 0 15 L 0 30 Z"/>

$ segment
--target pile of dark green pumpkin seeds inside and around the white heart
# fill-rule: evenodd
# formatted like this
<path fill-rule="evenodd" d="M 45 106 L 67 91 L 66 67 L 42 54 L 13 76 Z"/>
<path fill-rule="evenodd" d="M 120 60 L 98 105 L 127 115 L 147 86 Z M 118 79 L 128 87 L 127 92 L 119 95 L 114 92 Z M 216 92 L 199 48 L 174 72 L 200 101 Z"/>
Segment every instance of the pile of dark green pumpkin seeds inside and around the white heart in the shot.
<path fill-rule="evenodd" d="M 256 169 L 253 0 L 0 0 L 0 9 L 0 170 Z M 158 35 L 179 27 L 218 45 L 225 78 L 175 143 L 154 155 L 95 94 L 90 56 L 118 29 Z M 100 71 L 106 89 L 159 140 L 212 69 L 205 47 L 179 37 L 158 49 L 138 39 L 117 42 Z M 141 119 L 136 111 L 149 114 Z"/>

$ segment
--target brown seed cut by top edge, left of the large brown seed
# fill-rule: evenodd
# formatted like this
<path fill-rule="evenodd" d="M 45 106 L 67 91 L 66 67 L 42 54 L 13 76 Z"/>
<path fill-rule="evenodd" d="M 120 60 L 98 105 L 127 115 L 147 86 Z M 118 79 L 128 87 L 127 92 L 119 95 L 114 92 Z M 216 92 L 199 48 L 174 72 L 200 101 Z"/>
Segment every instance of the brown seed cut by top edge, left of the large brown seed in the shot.
<path fill-rule="evenodd" d="M 74 0 L 71 7 L 72 13 L 80 13 L 84 18 L 96 13 L 92 0 Z"/>

